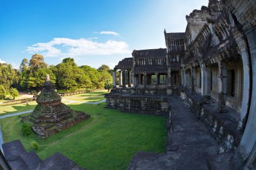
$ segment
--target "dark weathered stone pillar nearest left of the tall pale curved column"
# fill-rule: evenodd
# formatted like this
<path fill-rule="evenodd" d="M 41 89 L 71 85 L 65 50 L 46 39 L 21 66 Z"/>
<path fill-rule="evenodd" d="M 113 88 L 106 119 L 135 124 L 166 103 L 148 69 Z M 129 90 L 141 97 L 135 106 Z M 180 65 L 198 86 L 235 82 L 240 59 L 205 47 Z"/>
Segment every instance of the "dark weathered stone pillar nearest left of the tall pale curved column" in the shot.
<path fill-rule="evenodd" d="M 219 81 L 218 81 L 218 110 L 219 112 L 226 112 L 226 65 L 223 61 L 218 63 L 219 67 Z"/>

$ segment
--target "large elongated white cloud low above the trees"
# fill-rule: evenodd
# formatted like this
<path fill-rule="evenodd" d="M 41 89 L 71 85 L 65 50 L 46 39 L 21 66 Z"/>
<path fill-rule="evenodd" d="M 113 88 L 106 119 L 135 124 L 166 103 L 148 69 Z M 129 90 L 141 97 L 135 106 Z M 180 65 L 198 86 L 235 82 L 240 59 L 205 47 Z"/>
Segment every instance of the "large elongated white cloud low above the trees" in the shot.
<path fill-rule="evenodd" d="M 129 45 L 123 41 L 107 40 L 96 42 L 92 39 L 53 38 L 50 42 L 36 43 L 28 46 L 29 53 L 40 53 L 44 56 L 85 56 L 130 54 Z"/>

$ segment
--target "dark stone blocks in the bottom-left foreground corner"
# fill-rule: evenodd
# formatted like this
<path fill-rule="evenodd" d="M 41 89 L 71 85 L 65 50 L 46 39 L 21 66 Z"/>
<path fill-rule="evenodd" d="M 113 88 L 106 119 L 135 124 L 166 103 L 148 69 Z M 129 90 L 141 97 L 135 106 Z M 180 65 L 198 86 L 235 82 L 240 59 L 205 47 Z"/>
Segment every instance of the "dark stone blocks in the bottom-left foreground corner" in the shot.
<path fill-rule="evenodd" d="M 3 144 L 5 168 L 13 170 L 85 170 L 61 153 L 55 153 L 41 160 L 35 151 L 27 152 L 20 140 Z M 3 165 L 3 164 L 1 164 Z M 0 169 L 1 169 L 0 165 Z"/>

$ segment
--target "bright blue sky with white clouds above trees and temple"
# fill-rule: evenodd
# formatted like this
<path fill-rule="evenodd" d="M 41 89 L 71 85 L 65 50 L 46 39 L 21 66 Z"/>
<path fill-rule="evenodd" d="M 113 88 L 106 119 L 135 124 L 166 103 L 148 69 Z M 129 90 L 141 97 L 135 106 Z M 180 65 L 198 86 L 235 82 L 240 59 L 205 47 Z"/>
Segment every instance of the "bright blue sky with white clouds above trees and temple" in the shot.
<path fill-rule="evenodd" d="M 42 54 L 49 65 L 113 68 L 132 50 L 165 48 L 166 32 L 185 32 L 185 15 L 208 0 L 0 0 L 0 62 L 18 68 Z"/>

